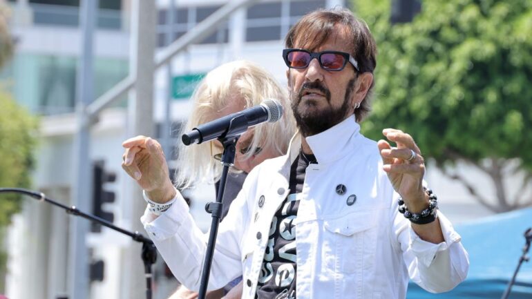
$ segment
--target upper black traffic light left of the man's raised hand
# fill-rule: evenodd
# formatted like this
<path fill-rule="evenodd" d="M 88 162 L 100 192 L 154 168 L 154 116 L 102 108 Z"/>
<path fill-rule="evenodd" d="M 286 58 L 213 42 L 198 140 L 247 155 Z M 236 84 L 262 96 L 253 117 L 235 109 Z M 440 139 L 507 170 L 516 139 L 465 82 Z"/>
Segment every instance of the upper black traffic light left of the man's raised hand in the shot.
<path fill-rule="evenodd" d="M 95 216 L 113 222 L 115 215 L 104 209 L 104 204 L 115 202 L 115 192 L 108 190 L 108 183 L 115 182 L 116 174 L 105 171 L 104 161 L 97 161 L 93 164 L 93 213 Z M 99 233 L 102 226 L 93 222 L 91 231 Z"/>

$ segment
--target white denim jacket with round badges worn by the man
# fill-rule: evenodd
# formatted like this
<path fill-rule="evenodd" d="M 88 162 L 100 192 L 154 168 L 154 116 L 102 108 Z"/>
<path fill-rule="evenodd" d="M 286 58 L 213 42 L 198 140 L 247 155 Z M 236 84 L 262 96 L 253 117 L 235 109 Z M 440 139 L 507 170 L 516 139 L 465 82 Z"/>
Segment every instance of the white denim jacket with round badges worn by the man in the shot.
<path fill-rule="evenodd" d="M 209 280 L 218 289 L 243 275 L 243 298 L 254 298 L 274 213 L 289 193 L 288 176 L 301 139 L 289 154 L 249 173 L 220 224 Z M 431 292 L 466 278 L 468 255 L 442 213 L 445 242 L 421 240 L 397 212 L 395 193 L 376 142 L 350 117 L 307 137 L 318 164 L 307 167 L 296 218 L 297 298 L 405 298 L 408 278 Z M 343 184 L 345 193 L 336 186 Z M 354 197 L 348 198 L 350 195 Z M 146 231 L 180 282 L 198 290 L 207 236 L 178 201 L 159 217 L 146 210 Z M 261 198 L 262 197 L 262 198 Z"/>

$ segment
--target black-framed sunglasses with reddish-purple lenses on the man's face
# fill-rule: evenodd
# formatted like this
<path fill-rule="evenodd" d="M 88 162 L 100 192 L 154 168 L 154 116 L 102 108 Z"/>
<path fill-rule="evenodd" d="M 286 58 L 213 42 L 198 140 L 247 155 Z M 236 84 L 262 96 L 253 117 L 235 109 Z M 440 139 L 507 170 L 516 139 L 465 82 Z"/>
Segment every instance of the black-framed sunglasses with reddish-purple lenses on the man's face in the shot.
<path fill-rule="evenodd" d="M 283 59 L 289 68 L 307 68 L 312 59 L 317 58 L 321 68 L 324 70 L 343 70 L 348 61 L 359 72 L 359 64 L 354 58 L 346 52 L 323 51 L 309 52 L 303 49 L 285 49 L 283 50 Z"/>

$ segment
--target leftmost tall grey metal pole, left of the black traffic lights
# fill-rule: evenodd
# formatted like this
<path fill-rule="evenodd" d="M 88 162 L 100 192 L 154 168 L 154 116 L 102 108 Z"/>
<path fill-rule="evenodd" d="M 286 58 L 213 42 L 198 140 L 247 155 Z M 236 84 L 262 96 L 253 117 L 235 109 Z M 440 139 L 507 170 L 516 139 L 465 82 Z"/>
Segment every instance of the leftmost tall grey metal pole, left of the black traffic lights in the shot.
<path fill-rule="evenodd" d="M 93 95 L 93 33 L 98 1 L 81 1 L 79 23 L 82 29 L 82 52 L 77 73 L 77 134 L 74 142 L 74 182 L 72 204 L 78 209 L 88 211 L 91 208 L 91 161 L 90 119 L 86 106 L 91 104 Z M 70 246 L 68 266 L 70 279 L 68 292 L 71 298 L 88 298 L 88 251 L 85 243 L 88 222 L 70 218 Z"/>

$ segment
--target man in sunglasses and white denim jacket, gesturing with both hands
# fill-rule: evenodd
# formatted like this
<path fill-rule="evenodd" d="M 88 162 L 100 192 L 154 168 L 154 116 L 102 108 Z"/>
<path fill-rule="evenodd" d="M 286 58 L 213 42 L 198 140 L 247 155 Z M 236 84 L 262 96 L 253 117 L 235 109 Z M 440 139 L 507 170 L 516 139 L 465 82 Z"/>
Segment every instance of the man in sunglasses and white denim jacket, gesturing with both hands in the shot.
<path fill-rule="evenodd" d="M 453 289 L 468 256 L 423 186 L 419 148 L 399 130 L 383 131 L 396 147 L 359 133 L 376 66 L 368 27 L 348 10 L 319 10 L 285 44 L 299 133 L 287 155 L 249 173 L 220 225 L 209 287 L 242 274 L 243 298 L 405 298 L 409 278 Z M 182 200 L 169 212 L 175 222 L 146 230 L 173 227 L 153 240 L 182 257 L 169 267 L 197 289 L 205 240 Z"/>

